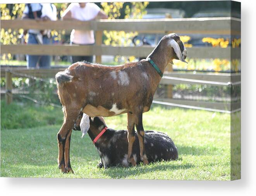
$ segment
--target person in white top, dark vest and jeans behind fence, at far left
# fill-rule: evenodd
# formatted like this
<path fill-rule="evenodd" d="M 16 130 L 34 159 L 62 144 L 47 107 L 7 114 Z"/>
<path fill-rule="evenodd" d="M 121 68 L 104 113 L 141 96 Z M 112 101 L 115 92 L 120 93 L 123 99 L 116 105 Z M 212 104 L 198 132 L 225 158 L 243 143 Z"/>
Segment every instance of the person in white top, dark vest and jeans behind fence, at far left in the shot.
<path fill-rule="evenodd" d="M 53 3 L 27 3 L 22 19 L 57 20 L 57 9 Z M 27 32 L 27 44 L 50 44 L 50 30 L 29 29 Z M 27 68 L 35 68 L 37 63 L 40 68 L 50 68 L 51 56 L 27 55 Z"/>

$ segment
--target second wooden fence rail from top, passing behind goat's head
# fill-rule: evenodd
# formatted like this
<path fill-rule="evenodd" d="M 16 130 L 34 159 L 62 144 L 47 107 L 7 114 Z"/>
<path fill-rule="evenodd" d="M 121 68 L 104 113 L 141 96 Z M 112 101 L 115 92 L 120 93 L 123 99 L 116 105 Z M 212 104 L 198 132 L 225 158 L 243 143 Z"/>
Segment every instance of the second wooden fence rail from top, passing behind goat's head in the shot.
<path fill-rule="evenodd" d="M 148 56 L 155 47 L 121 47 L 121 46 L 79 46 L 69 44 L 56 45 L 1 45 L 1 53 L 29 54 L 29 55 L 121 55 L 121 56 Z M 192 47 L 187 48 L 189 58 L 240 58 L 240 48 L 212 48 Z"/>

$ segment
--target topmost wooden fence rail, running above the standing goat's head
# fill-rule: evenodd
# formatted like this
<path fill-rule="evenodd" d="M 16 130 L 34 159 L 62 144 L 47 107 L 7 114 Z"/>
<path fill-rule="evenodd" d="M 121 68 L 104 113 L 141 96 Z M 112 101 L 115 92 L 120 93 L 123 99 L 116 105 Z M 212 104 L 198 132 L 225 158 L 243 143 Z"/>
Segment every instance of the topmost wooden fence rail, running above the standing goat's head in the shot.
<path fill-rule="evenodd" d="M 113 19 L 82 21 L 35 21 L 1 20 L 4 29 L 55 29 L 55 30 L 94 30 L 94 31 L 137 31 L 179 34 L 221 34 L 241 35 L 241 19 L 234 17 L 182 18 L 182 19 Z"/>

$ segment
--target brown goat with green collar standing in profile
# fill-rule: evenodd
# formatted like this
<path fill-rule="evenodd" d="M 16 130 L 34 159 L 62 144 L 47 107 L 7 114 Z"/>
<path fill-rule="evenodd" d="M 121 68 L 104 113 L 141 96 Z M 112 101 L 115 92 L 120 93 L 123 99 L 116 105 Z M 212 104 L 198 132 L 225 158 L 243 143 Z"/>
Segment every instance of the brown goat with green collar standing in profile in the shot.
<path fill-rule="evenodd" d="M 185 61 L 186 48 L 176 34 L 164 36 L 147 59 L 163 73 L 173 59 Z M 186 62 L 186 61 L 185 61 Z M 72 128 L 81 112 L 94 116 L 115 116 L 127 113 L 128 161 L 132 157 L 136 126 L 141 160 L 148 164 L 144 151 L 142 114 L 150 109 L 153 95 L 161 80 L 149 63 L 141 60 L 120 66 L 103 66 L 77 62 L 56 74 L 58 95 L 63 106 L 64 123 L 58 132 L 58 164 L 62 172 L 73 172 L 69 159 Z"/>

